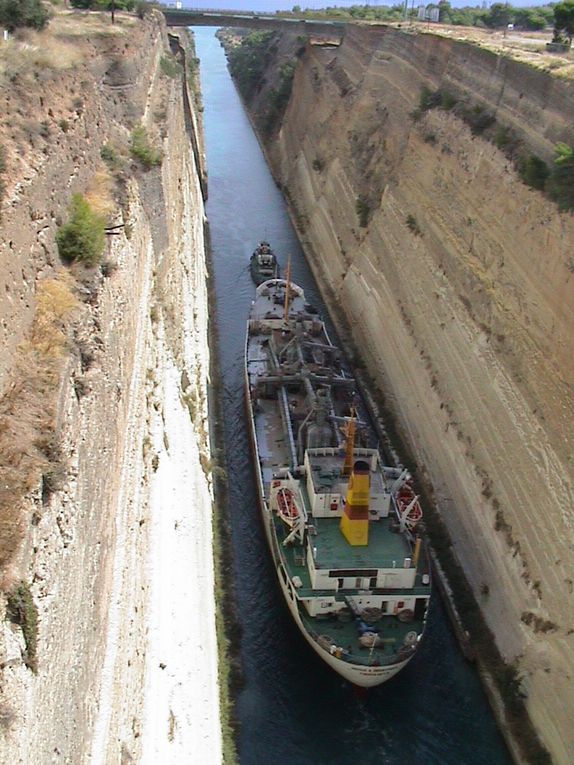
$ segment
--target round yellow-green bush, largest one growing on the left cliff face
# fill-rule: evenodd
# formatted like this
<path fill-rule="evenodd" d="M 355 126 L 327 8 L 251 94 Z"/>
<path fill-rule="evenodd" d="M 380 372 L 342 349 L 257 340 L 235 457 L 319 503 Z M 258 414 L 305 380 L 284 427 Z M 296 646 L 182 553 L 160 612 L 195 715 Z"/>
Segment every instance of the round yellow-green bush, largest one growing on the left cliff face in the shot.
<path fill-rule="evenodd" d="M 98 265 L 106 244 L 105 227 L 105 218 L 97 215 L 81 194 L 74 194 L 70 205 L 70 220 L 60 226 L 56 233 L 62 260 Z"/>

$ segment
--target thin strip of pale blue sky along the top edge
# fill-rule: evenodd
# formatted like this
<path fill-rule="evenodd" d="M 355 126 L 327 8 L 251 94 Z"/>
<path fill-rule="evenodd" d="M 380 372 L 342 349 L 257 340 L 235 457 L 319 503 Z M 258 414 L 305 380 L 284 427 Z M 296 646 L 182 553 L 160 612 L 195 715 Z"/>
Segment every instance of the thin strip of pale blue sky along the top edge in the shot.
<path fill-rule="evenodd" d="M 435 0 L 437 1 L 437 0 Z M 162 0 L 165 2 L 165 0 Z M 398 5 L 401 0 L 183 0 L 184 8 L 210 8 L 213 10 L 252 10 L 259 12 L 274 12 L 276 10 L 290 11 L 294 5 L 300 5 L 301 8 L 325 8 L 327 6 L 338 6 L 340 8 L 349 5 Z M 421 4 L 425 0 L 421 0 Z M 426 0 L 430 2 L 430 0 Z M 166 3 L 167 4 L 167 3 Z M 481 7 L 482 0 L 450 0 L 453 8 L 463 8 L 465 6 Z M 512 0 L 509 5 L 515 8 L 532 7 L 534 5 L 545 5 L 546 0 Z M 409 0 L 409 7 L 411 0 Z M 419 5 L 415 0 L 415 5 Z M 487 6 L 492 2 L 487 0 Z"/>

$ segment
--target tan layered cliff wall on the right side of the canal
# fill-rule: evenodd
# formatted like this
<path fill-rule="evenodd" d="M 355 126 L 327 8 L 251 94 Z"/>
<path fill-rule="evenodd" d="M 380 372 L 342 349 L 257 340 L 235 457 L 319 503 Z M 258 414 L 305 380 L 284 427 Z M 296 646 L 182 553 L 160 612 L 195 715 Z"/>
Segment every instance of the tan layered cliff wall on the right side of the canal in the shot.
<path fill-rule="evenodd" d="M 574 216 L 452 112 L 414 121 L 423 85 L 487 107 L 541 156 L 574 143 L 572 83 L 463 43 L 350 29 L 338 49 L 307 47 L 267 152 L 325 296 L 395 410 L 535 725 L 566 765 Z"/>

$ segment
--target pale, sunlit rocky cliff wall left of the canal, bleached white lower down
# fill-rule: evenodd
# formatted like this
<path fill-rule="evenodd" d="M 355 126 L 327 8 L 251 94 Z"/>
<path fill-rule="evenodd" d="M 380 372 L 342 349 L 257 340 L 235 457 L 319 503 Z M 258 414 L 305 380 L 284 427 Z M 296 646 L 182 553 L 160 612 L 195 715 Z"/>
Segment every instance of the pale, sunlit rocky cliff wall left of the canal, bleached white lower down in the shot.
<path fill-rule="evenodd" d="M 31 652 L 2 623 L 0 760 L 219 762 L 190 67 L 156 14 L 63 13 L 31 43 L 2 51 L 0 549 L 38 631 Z M 137 125 L 163 154 L 147 171 Z M 73 192 L 115 227 L 101 267 L 60 262 Z"/>

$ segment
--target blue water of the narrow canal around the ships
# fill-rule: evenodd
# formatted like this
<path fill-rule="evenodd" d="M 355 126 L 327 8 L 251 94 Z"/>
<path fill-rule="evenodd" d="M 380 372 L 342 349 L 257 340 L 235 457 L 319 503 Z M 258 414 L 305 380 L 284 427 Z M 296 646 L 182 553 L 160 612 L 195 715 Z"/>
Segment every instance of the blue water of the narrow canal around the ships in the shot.
<path fill-rule="evenodd" d="M 474 669 L 435 596 L 423 646 L 359 699 L 314 654 L 284 606 L 258 517 L 243 407 L 243 345 L 254 286 L 249 256 L 268 239 L 323 313 L 285 203 L 214 30 L 197 28 L 220 336 L 234 588 L 245 684 L 237 698 L 241 765 L 510 765 Z"/>

